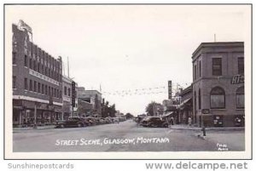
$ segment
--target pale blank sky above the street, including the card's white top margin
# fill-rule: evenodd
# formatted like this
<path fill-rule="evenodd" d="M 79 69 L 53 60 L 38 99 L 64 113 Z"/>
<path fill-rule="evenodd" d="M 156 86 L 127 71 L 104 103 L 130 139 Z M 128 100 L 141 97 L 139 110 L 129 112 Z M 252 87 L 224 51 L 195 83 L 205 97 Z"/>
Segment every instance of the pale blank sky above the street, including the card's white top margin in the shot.
<path fill-rule="evenodd" d="M 15 5 L 6 24 L 24 20 L 33 42 L 57 58 L 67 75 L 120 112 L 145 112 L 192 83 L 192 53 L 202 42 L 245 40 L 240 5 Z M 64 71 L 63 71 L 64 72 Z M 177 85 L 178 84 L 178 85 Z"/>

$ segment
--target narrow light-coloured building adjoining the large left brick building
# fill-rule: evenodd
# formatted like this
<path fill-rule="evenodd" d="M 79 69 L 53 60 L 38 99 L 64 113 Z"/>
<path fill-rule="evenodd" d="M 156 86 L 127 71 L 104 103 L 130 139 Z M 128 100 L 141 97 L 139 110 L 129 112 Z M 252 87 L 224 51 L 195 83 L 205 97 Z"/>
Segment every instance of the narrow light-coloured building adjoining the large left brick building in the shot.
<path fill-rule="evenodd" d="M 72 83 L 73 79 L 70 77 L 62 76 L 62 116 L 61 119 L 67 119 L 68 117 L 76 117 L 78 116 L 78 98 L 77 98 L 77 91 L 78 91 L 78 83 L 74 83 L 75 85 L 75 105 L 72 105 L 72 94 L 73 88 Z"/>

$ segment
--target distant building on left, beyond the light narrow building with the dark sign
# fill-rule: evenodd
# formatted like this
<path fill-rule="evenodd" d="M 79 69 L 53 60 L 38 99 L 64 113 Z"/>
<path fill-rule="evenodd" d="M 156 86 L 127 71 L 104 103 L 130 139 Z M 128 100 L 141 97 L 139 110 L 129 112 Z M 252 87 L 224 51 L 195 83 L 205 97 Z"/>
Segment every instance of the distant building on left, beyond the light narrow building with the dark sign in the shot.
<path fill-rule="evenodd" d="M 102 94 L 99 91 L 85 90 L 85 88 L 79 87 L 78 98 L 92 104 L 92 115 L 102 117 Z"/>

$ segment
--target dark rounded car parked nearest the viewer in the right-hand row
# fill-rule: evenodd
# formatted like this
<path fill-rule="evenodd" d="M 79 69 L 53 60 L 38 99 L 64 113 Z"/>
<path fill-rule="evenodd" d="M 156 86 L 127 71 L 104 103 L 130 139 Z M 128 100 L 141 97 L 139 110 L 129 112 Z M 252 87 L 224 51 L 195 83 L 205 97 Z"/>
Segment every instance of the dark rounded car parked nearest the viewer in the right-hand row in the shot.
<path fill-rule="evenodd" d="M 169 126 L 166 121 L 161 117 L 144 117 L 140 123 L 143 127 L 163 127 Z"/>

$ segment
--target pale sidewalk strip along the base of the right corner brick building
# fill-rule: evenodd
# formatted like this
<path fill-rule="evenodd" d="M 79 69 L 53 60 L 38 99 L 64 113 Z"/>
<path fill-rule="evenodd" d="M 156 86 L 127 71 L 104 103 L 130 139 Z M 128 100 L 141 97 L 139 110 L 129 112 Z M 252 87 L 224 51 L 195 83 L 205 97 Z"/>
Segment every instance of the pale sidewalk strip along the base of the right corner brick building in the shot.
<path fill-rule="evenodd" d="M 195 127 L 195 126 L 189 126 L 185 124 L 175 124 L 169 126 L 169 128 L 175 129 L 175 130 L 198 130 L 201 131 L 200 127 Z M 244 130 L 244 127 L 224 127 L 224 128 L 206 128 L 206 130 L 212 130 L 212 131 L 241 131 Z"/>

